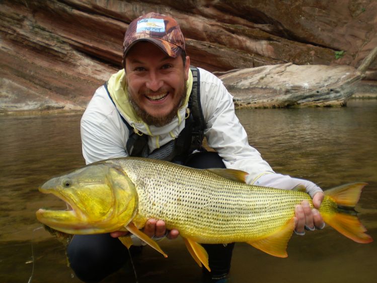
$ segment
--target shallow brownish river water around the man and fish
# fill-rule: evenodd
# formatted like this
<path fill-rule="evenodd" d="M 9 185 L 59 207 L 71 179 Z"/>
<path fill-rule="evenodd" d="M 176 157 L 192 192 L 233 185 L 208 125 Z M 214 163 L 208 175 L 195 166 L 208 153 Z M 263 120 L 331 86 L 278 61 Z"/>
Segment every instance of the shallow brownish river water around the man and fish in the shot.
<path fill-rule="evenodd" d="M 377 101 L 345 108 L 244 109 L 237 115 L 249 143 L 276 172 L 306 178 L 324 189 L 364 181 L 356 207 L 368 234 L 377 239 Z M 64 247 L 35 219 L 40 207 L 65 205 L 38 185 L 84 165 L 81 114 L 0 117 L 0 282 L 80 282 L 66 265 Z M 200 269 L 181 239 L 161 243 L 169 257 L 144 248 L 134 258 L 137 280 L 199 282 Z M 288 258 L 236 244 L 232 282 L 373 282 L 377 245 L 357 244 L 330 227 L 293 235 Z M 122 269 L 104 282 L 136 282 Z"/>

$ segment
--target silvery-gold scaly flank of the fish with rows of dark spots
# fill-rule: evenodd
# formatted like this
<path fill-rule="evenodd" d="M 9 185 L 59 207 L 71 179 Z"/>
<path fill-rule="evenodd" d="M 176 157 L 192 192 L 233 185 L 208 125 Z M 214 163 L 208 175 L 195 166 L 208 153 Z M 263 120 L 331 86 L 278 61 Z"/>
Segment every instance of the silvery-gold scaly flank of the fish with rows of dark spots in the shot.
<path fill-rule="evenodd" d="M 109 161 L 120 165 L 135 184 L 136 218 L 162 219 L 200 243 L 244 242 L 283 226 L 307 193 L 252 186 L 207 170 L 139 158 Z M 261 225 L 262 224 L 262 225 Z"/>

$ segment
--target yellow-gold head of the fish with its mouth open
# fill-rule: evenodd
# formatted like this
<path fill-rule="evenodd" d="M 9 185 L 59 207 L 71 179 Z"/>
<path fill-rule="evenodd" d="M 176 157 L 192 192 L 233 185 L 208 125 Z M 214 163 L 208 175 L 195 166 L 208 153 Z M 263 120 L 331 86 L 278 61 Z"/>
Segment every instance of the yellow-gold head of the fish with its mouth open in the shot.
<path fill-rule="evenodd" d="M 39 209 L 37 219 L 67 234 L 99 234 L 124 230 L 136 213 L 137 194 L 127 175 L 102 164 L 52 178 L 39 191 L 54 194 L 67 210 Z"/>

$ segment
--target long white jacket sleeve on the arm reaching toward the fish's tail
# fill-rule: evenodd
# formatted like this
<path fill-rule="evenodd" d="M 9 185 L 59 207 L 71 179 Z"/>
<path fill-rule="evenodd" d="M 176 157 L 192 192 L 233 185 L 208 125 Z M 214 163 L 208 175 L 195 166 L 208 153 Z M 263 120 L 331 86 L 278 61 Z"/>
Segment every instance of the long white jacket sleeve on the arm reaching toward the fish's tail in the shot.
<path fill-rule="evenodd" d="M 265 173 L 274 173 L 260 153 L 248 143 L 247 133 L 236 116 L 233 97 L 214 75 L 200 69 L 200 101 L 208 146 L 214 149 L 227 168 L 249 173 L 253 183 Z"/>

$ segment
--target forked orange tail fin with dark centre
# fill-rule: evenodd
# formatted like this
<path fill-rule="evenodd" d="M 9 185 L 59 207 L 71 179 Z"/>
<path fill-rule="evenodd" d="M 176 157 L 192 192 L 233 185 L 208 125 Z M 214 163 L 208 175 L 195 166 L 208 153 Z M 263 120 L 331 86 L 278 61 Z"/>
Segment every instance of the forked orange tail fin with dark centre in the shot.
<path fill-rule="evenodd" d="M 339 233 L 357 243 L 370 243 L 373 239 L 365 234 L 366 229 L 361 224 L 353 209 L 359 201 L 361 189 L 367 183 L 352 183 L 325 191 L 325 196 L 338 204 L 331 213 L 324 211 L 323 220 Z"/>

